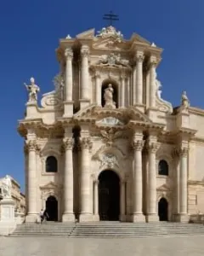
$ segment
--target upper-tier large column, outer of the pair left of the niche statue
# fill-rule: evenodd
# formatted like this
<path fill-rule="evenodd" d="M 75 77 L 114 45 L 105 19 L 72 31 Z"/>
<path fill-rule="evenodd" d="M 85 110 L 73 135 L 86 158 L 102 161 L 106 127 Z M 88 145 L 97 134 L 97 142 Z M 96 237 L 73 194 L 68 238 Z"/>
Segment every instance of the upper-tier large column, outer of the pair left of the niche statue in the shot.
<path fill-rule="evenodd" d="M 71 48 L 65 49 L 65 102 L 72 102 L 73 78 L 72 78 L 72 58 Z"/>

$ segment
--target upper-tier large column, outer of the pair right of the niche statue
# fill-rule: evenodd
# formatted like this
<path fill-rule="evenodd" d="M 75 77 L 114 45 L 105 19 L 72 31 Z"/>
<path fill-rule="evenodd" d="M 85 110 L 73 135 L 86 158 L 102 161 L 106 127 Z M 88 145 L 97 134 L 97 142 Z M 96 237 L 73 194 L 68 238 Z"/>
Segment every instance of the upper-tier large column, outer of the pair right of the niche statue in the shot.
<path fill-rule="evenodd" d="M 156 57 L 150 57 L 150 108 L 156 108 Z"/>

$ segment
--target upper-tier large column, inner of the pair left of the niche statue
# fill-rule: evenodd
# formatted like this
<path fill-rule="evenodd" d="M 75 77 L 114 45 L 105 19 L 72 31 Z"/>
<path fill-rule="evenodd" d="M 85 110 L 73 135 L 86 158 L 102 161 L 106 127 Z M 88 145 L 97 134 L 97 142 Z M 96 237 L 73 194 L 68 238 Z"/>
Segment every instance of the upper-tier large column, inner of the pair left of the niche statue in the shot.
<path fill-rule="evenodd" d="M 82 100 L 89 100 L 88 53 L 89 53 L 88 46 L 82 45 L 82 49 L 81 49 L 81 56 L 82 56 L 81 97 L 82 97 Z"/>

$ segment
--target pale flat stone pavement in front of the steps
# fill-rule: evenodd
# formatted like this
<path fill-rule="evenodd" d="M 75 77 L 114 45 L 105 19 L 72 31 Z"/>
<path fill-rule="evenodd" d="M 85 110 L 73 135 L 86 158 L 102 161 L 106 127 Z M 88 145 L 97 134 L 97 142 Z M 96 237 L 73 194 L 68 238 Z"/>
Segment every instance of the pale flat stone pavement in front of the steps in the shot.
<path fill-rule="evenodd" d="M 0 237 L 1 256 L 200 256 L 204 236 L 139 239 Z"/>

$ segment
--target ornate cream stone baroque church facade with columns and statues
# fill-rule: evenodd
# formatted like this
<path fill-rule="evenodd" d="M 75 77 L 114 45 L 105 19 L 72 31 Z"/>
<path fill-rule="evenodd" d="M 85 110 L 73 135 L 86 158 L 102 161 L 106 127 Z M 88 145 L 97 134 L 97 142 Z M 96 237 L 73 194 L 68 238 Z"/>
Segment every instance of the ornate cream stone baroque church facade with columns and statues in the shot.
<path fill-rule="evenodd" d="M 162 49 L 113 26 L 59 40 L 59 74 L 26 84 L 26 222 L 189 222 L 204 211 L 204 111 L 161 98 Z"/>

